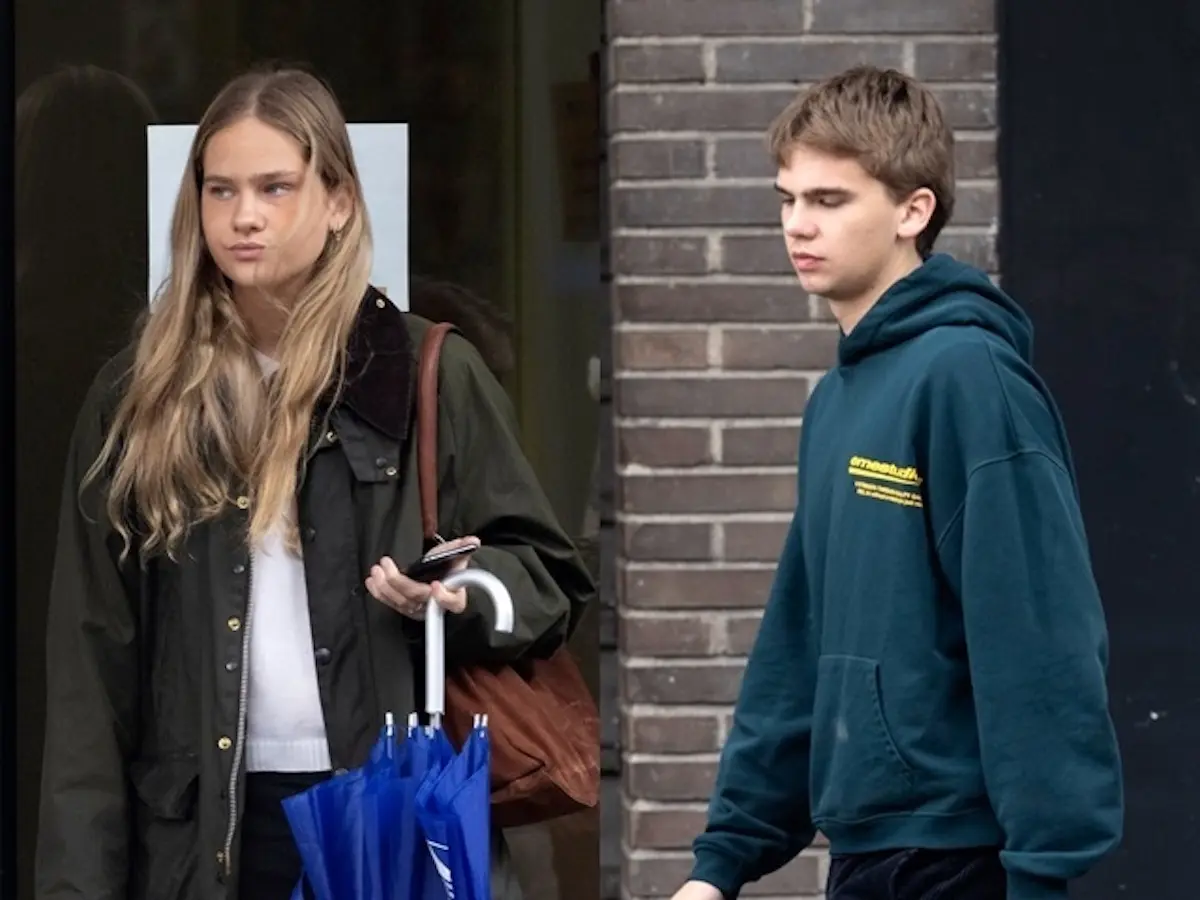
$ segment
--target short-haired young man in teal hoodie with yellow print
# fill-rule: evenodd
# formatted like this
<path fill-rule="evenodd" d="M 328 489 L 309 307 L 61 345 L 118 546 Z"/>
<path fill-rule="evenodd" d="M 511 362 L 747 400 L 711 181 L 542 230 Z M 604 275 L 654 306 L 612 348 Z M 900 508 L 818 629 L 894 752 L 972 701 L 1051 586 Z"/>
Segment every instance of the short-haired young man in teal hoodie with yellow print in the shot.
<path fill-rule="evenodd" d="M 830 900 L 1061 900 L 1121 839 L 1108 637 L 1028 318 L 931 254 L 935 97 L 856 68 L 770 130 L 787 252 L 841 326 L 695 869 L 732 900 L 817 829 Z"/>

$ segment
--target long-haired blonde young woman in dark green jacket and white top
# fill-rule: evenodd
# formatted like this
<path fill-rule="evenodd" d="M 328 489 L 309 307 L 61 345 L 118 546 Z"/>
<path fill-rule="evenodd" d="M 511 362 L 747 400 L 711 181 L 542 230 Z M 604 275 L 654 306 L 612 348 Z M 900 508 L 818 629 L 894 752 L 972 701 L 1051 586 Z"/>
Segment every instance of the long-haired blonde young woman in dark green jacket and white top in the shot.
<path fill-rule="evenodd" d="M 52 588 L 37 898 L 290 896 L 281 800 L 419 709 L 428 602 L 449 664 L 548 654 L 594 592 L 506 397 L 442 356 L 440 521 L 516 605 L 421 556 L 413 403 L 428 323 L 367 283 L 346 122 L 299 71 L 230 83 L 197 130 L 172 270 L 79 415 Z M 460 563 L 466 565 L 466 558 Z M 494 840 L 494 896 L 517 896 Z"/>

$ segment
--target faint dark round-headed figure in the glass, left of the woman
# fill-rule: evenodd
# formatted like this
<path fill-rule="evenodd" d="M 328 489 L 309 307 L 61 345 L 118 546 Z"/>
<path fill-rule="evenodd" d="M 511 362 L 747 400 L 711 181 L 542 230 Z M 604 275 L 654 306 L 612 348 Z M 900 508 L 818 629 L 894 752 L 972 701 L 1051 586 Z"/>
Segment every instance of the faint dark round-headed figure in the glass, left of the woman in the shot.
<path fill-rule="evenodd" d="M 37 815 L 46 595 L 76 410 L 146 306 L 145 91 L 100 66 L 31 82 L 16 109 L 17 804 Z M 80 148 L 86 148 L 82 152 Z M 103 227 L 97 228 L 96 222 Z M 17 829 L 18 896 L 32 893 L 36 833 Z"/>

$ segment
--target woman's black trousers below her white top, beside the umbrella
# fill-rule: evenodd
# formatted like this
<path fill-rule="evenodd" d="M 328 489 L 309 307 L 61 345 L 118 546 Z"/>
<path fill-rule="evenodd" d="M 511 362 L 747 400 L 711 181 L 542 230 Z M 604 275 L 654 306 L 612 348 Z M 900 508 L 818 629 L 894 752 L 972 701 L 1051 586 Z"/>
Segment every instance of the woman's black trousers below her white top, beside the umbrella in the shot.
<path fill-rule="evenodd" d="M 300 853 L 283 814 L 283 800 L 329 776 L 328 772 L 246 775 L 238 875 L 238 896 L 242 900 L 289 900 L 300 880 Z"/>

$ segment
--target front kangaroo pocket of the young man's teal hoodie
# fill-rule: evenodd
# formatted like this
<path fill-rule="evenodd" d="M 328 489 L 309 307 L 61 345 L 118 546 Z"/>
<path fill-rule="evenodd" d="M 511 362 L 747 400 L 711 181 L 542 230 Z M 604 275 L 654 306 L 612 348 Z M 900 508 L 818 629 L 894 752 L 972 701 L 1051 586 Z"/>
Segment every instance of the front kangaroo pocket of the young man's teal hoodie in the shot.
<path fill-rule="evenodd" d="M 812 816 L 853 822 L 901 811 L 912 770 L 888 730 L 880 665 L 860 656 L 821 656 L 812 709 Z"/>

